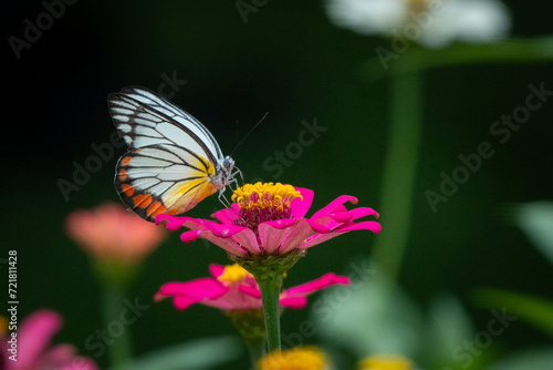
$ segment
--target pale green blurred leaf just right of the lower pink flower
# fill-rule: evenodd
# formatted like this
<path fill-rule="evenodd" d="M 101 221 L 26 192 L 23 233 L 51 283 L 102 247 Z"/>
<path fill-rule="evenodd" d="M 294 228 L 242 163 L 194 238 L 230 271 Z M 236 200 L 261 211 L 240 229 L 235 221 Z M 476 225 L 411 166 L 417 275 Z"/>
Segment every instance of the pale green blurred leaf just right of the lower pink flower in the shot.
<path fill-rule="evenodd" d="M 313 301 L 312 320 L 317 332 L 359 358 L 369 353 L 413 358 L 420 346 L 420 311 L 399 288 L 390 290 L 384 274 L 365 278 L 349 287 L 327 289 Z M 341 294 L 344 289 L 351 294 Z"/>

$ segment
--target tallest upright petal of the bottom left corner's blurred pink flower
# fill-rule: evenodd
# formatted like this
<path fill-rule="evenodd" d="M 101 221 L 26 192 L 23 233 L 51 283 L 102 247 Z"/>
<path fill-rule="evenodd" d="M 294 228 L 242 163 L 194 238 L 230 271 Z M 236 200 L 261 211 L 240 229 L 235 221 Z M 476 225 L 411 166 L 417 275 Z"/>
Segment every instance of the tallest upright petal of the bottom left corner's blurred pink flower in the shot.
<path fill-rule="evenodd" d="M 61 327 L 62 317 L 54 311 L 39 310 L 29 315 L 19 327 L 18 347 L 23 350 L 18 356 L 18 368 L 32 367 Z"/>

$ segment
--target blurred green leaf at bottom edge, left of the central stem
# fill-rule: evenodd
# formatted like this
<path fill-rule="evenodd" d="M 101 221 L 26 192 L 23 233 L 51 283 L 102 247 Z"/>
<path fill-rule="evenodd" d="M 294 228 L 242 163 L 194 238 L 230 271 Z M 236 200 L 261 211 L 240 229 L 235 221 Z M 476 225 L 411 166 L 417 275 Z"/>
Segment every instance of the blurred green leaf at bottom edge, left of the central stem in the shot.
<path fill-rule="evenodd" d="M 164 348 L 111 370 L 202 370 L 237 359 L 242 352 L 234 338 L 198 339 Z"/>

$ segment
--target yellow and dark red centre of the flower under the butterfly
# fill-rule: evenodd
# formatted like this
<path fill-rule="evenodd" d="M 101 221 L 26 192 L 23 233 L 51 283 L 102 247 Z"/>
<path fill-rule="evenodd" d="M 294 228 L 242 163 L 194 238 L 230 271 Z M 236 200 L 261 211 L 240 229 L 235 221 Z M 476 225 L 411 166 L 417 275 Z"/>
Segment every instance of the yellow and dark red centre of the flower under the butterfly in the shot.
<path fill-rule="evenodd" d="M 302 195 L 292 185 L 255 183 L 237 188 L 231 199 L 240 206 L 242 226 L 257 232 L 263 222 L 290 218 L 290 202 L 296 197 Z"/>

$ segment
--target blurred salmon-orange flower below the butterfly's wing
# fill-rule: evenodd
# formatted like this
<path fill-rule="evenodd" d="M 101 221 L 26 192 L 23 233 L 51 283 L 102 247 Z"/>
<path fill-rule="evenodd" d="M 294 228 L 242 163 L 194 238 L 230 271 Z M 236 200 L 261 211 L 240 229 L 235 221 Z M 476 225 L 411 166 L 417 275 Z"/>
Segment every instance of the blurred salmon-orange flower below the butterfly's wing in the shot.
<path fill-rule="evenodd" d="M 123 264 L 140 261 L 165 238 L 163 228 L 114 203 L 74 210 L 65 228 L 88 255 Z"/>

